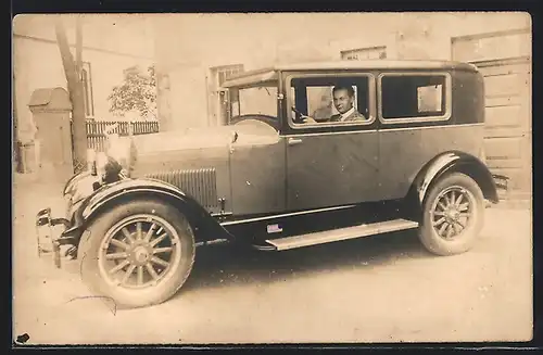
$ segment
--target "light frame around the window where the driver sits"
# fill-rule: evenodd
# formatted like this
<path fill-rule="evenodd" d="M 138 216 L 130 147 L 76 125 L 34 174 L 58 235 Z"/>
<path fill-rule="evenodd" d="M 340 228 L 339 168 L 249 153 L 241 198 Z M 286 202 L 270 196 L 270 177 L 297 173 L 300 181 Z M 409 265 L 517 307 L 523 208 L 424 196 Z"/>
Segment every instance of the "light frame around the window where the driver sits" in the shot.
<path fill-rule="evenodd" d="M 368 79 L 368 113 L 369 119 L 363 122 L 348 122 L 348 123 L 316 123 L 316 124 L 294 124 L 292 117 L 292 111 L 290 107 L 293 105 L 293 98 L 291 96 L 291 83 L 292 79 L 298 78 L 357 78 L 365 77 Z M 376 107 L 376 77 L 371 72 L 350 72 L 350 73 L 285 73 L 285 97 L 286 97 L 286 114 L 288 126 L 293 130 L 305 130 L 305 129 L 319 129 L 319 128 L 330 128 L 330 127 L 350 127 L 356 129 L 359 127 L 366 127 L 372 125 L 377 119 L 377 107 Z M 332 103 L 333 104 L 333 103 Z"/>

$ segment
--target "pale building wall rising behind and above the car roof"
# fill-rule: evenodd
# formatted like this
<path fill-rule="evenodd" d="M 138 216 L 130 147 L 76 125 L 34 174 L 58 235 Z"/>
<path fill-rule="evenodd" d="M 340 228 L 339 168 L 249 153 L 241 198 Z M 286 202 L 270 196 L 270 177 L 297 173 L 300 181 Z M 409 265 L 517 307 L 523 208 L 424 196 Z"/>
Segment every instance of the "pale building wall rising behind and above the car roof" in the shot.
<path fill-rule="evenodd" d="M 338 60 L 344 50 L 382 46 L 387 59 L 450 60 L 453 37 L 531 26 L 525 13 L 173 14 L 156 18 L 156 60 L 174 73 L 172 114 L 174 121 L 181 121 L 176 124 L 179 128 L 215 122 L 180 118 L 195 117 L 193 113 L 201 114 L 204 107 L 207 116 L 215 114 L 216 107 L 209 102 L 218 100 L 209 84 L 214 66 L 243 64 L 249 71 L 277 63 Z"/>

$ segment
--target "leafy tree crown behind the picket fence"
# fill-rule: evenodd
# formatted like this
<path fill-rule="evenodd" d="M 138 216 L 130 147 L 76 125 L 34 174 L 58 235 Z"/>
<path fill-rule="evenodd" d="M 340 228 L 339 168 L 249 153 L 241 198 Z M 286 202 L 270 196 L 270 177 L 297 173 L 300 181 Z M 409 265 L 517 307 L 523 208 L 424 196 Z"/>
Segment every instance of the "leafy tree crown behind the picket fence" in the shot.
<path fill-rule="evenodd" d="M 139 66 L 124 71 L 123 83 L 115 86 L 108 97 L 110 112 L 125 116 L 128 112 L 138 112 L 142 117 L 156 118 L 156 76 L 154 65 L 142 73 Z"/>

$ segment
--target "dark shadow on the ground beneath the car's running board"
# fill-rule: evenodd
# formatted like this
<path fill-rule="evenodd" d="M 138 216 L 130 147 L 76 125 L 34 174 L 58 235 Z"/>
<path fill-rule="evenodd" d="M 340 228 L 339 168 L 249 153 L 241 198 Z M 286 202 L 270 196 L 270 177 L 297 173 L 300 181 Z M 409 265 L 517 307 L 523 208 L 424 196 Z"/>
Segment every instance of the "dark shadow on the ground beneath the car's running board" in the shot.
<path fill-rule="evenodd" d="M 416 232 L 394 232 L 283 252 L 235 245 L 201 249 L 184 292 L 251 282 L 270 283 L 301 275 L 387 265 L 402 258 L 433 257 Z"/>

